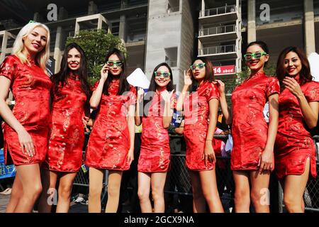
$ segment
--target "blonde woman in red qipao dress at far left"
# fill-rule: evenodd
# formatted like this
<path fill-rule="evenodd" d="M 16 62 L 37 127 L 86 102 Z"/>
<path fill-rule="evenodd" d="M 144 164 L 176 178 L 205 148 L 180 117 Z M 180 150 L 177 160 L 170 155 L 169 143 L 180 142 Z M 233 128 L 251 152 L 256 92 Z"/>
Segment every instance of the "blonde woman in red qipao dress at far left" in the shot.
<path fill-rule="evenodd" d="M 4 118 L 4 157 L 16 165 L 6 212 L 30 212 L 42 191 L 40 163 L 47 154 L 50 129 L 50 89 L 45 69 L 50 55 L 50 31 L 28 23 L 18 33 L 12 55 L 0 67 L 0 114 Z M 16 104 L 6 105 L 9 89 Z M 8 153 L 9 152 L 9 153 Z"/>

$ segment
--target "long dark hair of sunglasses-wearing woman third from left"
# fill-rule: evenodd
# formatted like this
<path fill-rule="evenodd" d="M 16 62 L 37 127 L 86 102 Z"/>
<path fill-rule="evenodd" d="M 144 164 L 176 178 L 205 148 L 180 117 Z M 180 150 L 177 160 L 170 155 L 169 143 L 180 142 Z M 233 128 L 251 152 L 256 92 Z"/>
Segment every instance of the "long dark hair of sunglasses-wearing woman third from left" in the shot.
<path fill-rule="evenodd" d="M 112 48 L 111 50 L 108 51 L 108 54 L 106 55 L 106 62 L 108 61 L 108 57 L 110 57 L 113 54 L 118 56 L 120 61 L 123 62 L 122 72 L 120 75 L 120 86 L 118 87 L 118 93 L 117 93 L 118 95 L 121 95 L 123 94 L 123 92 L 128 92 L 130 89 L 130 84 L 128 84 L 128 81 L 126 80 L 126 76 L 125 76 L 126 60 L 121 50 Z M 108 71 L 108 78 L 106 79 L 106 82 L 104 83 L 104 86 L 103 86 L 103 94 L 108 95 L 108 86 L 110 86 L 112 80 L 115 78 L 116 77 L 113 76 L 113 74 L 111 73 L 111 70 Z"/>

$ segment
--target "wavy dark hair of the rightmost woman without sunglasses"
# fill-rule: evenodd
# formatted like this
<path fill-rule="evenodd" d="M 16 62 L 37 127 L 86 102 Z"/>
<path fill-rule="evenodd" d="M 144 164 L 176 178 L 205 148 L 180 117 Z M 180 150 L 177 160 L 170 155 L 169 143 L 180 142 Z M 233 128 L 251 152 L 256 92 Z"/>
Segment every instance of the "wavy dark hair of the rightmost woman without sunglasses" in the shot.
<path fill-rule="evenodd" d="M 301 68 L 301 71 L 299 73 L 301 85 L 306 84 L 306 82 L 312 81 L 313 77 L 310 74 L 310 65 L 309 65 L 308 59 L 306 57 L 306 54 L 300 48 L 288 47 L 288 48 L 284 48 L 284 50 L 281 51 L 281 53 L 278 57 L 278 60 L 277 60 L 276 76 L 279 79 L 281 87 L 282 87 L 282 81 L 284 80 L 284 78 L 286 76 L 289 75 L 289 74 L 287 74 L 286 70 L 284 69 L 285 57 L 289 52 L 296 52 L 299 59 L 301 60 L 302 68 Z"/>

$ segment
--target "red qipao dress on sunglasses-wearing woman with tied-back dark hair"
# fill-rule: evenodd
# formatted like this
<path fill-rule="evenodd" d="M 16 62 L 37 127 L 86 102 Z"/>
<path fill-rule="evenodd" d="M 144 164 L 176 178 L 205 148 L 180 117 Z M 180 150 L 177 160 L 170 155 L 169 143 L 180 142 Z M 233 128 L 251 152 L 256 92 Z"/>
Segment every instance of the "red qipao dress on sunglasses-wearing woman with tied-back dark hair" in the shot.
<path fill-rule="evenodd" d="M 258 72 L 237 86 L 232 94 L 233 151 L 231 170 L 257 170 L 267 143 L 268 126 L 263 109 L 272 94 L 279 94 L 279 81 Z"/>

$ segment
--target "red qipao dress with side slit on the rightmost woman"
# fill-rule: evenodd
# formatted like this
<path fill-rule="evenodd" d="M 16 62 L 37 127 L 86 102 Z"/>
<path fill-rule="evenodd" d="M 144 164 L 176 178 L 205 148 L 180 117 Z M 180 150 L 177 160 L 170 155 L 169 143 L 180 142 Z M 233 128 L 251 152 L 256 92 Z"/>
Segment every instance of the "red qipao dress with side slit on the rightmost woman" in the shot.
<path fill-rule="evenodd" d="M 319 83 L 307 82 L 301 90 L 308 102 L 319 101 Z M 296 96 L 284 89 L 279 96 L 279 125 L 274 149 L 276 176 L 302 175 L 310 157 L 310 172 L 316 177 L 315 144 Z"/>

